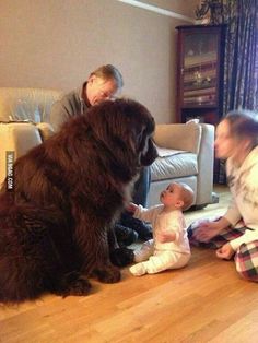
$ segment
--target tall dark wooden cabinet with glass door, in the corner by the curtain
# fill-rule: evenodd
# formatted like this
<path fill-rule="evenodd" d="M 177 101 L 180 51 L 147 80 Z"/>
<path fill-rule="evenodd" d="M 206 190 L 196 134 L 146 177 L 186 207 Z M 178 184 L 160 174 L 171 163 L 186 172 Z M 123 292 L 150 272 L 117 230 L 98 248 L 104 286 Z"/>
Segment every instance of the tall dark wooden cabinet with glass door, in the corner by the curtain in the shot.
<path fill-rule="evenodd" d="M 225 25 L 177 26 L 177 122 L 216 123 L 223 108 Z"/>

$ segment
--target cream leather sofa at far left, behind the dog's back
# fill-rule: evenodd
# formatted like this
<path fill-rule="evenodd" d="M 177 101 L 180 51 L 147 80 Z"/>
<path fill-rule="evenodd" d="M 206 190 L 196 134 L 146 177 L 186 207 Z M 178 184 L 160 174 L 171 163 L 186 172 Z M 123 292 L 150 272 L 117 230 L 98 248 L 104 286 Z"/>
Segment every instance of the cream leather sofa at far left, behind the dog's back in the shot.
<path fill-rule="evenodd" d="M 61 94 L 54 90 L 0 87 L 0 184 L 7 175 L 8 152 L 17 158 L 54 133 L 48 117 Z"/>

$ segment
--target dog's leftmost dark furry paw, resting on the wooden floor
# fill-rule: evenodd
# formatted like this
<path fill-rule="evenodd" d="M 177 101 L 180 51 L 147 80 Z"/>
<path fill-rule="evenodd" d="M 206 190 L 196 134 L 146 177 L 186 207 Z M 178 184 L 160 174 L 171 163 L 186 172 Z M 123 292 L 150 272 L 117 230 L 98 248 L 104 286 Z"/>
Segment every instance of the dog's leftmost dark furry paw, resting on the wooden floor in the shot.
<path fill-rule="evenodd" d="M 73 272 L 64 275 L 55 293 L 62 297 L 69 295 L 82 296 L 87 295 L 92 285 L 85 275 Z"/>

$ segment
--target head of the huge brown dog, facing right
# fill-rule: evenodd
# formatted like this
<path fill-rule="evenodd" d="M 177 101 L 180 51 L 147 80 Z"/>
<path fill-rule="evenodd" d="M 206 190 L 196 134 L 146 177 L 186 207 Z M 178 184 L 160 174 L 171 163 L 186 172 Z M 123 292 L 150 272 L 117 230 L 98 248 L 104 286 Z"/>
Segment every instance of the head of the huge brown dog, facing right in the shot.
<path fill-rule="evenodd" d="M 155 122 L 149 110 L 131 99 L 107 100 L 92 107 L 86 120 L 97 140 L 116 156 L 138 166 L 151 165 L 157 156 L 152 142 Z M 122 161 L 120 158 L 120 161 Z"/>

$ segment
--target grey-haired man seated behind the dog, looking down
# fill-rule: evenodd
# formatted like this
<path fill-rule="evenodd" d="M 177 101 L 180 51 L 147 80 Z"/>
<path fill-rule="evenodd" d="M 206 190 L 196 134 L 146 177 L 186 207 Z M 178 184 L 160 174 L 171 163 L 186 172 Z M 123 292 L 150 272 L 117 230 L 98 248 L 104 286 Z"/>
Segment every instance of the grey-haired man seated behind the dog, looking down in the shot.
<path fill-rule="evenodd" d="M 122 75 L 116 67 L 106 64 L 97 68 L 90 73 L 80 88 L 63 95 L 52 105 L 50 123 L 54 130 L 58 131 L 61 125 L 72 116 L 85 114 L 91 106 L 115 98 L 122 86 Z M 134 186 L 133 202 L 145 206 L 149 188 L 150 170 L 144 168 Z M 152 236 L 150 226 L 126 213 L 116 224 L 115 233 L 120 245 L 129 245 L 138 236 L 143 240 L 148 240 Z"/>

